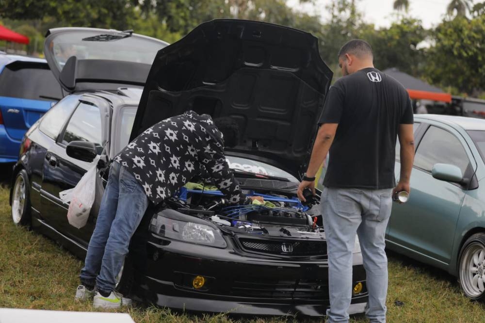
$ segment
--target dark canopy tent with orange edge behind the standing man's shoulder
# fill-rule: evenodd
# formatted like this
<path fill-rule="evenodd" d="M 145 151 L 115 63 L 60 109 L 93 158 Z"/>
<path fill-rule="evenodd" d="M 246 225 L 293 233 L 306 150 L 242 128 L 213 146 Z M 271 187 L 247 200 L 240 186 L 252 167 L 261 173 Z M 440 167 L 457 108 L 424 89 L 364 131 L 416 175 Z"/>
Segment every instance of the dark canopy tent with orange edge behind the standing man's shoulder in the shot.
<path fill-rule="evenodd" d="M 452 101 L 452 95 L 445 93 L 440 88 L 430 85 L 425 81 L 421 81 L 409 74 L 401 72 L 396 67 L 388 68 L 383 71 L 387 75 L 393 77 L 399 81 L 406 88 L 409 93 L 409 97 L 415 100 L 432 100 L 450 103 Z"/>

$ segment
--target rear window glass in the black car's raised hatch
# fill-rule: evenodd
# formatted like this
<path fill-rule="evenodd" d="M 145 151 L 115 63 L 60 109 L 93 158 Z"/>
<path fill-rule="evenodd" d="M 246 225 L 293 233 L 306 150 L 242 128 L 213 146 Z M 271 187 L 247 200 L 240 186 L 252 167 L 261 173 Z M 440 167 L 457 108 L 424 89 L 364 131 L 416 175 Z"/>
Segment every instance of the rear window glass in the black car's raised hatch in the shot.
<path fill-rule="evenodd" d="M 157 52 L 168 44 L 161 40 L 113 30 L 66 30 L 54 34 L 49 55 L 61 71 L 67 59 L 113 60 L 151 65 Z"/>

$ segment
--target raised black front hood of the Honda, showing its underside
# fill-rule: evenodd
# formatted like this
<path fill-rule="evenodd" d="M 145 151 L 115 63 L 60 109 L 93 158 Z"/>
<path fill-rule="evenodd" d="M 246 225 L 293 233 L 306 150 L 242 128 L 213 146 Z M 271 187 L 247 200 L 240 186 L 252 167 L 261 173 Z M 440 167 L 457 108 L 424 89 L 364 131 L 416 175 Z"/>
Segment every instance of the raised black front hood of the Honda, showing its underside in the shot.
<path fill-rule="evenodd" d="M 205 22 L 157 53 L 130 140 L 187 110 L 230 116 L 241 140 L 226 147 L 227 154 L 270 163 L 298 178 L 332 76 L 310 33 L 247 20 Z"/>

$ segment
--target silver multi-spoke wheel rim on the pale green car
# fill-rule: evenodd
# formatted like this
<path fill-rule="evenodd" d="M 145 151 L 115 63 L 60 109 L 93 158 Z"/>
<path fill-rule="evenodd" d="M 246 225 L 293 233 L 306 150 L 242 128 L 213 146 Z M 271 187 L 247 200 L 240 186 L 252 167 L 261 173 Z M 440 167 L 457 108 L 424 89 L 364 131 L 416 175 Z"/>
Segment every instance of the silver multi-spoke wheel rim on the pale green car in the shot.
<path fill-rule="evenodd" d="M 471 242 L 463 252 L 460 280 L 467 296 L 476 298 L 485 291 L 485 246 Z"/>

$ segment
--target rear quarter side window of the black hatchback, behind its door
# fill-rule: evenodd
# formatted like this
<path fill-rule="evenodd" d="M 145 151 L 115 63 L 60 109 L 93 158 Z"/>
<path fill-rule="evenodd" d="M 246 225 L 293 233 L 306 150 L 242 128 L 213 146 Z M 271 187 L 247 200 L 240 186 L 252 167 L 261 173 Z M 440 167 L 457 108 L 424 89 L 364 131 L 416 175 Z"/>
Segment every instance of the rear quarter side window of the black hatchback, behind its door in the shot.
<path fill-rule="evenodd" d="M 68 96 L 52 107 L 40 121 L 39 129 L 50 138 L 57 140 L 57 136 L 67 118 L 79 103 L 78 96 Z"/>

